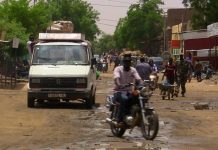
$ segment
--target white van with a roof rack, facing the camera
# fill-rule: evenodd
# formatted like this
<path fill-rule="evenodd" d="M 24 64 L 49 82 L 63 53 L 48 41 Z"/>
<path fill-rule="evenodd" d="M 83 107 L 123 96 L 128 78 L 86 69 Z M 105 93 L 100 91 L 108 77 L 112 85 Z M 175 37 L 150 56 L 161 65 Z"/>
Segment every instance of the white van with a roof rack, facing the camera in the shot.
<path fill-rule="evenodd" d="M 80 33 L 39 33 L 29 70 L 27 106 L 44 101 L 95 104 L 96 68 L 90 42 Z"/>

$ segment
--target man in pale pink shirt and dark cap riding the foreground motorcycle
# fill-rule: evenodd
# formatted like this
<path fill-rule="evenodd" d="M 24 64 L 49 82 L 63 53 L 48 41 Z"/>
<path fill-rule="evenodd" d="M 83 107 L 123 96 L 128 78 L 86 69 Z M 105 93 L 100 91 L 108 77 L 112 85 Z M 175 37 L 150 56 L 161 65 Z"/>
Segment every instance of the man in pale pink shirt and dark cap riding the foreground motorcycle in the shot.
<path fill-rule="evenodd" d="M 131 54 L 124 54 L 123 66 L 114 69 L 115 101 L 120 103 L 118 112 L 118 124 L 123 124 L 123 116 L 128 112 L 131 104 L 132 87 L 125 87 L 129 83 L 141 83 L 141 78 L 136 69 L 131 67 Z"/>

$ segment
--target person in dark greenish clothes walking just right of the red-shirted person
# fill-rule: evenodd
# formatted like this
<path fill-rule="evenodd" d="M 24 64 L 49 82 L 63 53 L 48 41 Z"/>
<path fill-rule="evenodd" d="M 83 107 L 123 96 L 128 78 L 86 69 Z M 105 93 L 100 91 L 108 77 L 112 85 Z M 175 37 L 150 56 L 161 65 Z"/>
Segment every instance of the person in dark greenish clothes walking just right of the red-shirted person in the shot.
<path fill-rule="evenodd" d="M 184 59 L 183 55 L 180 55 L 180 61 L 176 64 L 176 75 L 177 75 L 177 90 L 181 87 L 182 97 L 185 97 L 186 93 L 186 82 L 188 79 L 189 63 Z"/>

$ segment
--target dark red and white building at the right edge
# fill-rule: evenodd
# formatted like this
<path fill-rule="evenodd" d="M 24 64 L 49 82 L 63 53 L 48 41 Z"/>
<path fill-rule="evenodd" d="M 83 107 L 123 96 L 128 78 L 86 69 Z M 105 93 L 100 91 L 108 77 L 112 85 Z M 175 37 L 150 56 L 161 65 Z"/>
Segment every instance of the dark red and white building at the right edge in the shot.
<path fill-rule="evenodd" d="M 193 63 L 199 59 L 218 70 L 218 35 L 209 36 L 208 30 L 183 32 L 183 43 L 185 55 L 191 53 Z"/>

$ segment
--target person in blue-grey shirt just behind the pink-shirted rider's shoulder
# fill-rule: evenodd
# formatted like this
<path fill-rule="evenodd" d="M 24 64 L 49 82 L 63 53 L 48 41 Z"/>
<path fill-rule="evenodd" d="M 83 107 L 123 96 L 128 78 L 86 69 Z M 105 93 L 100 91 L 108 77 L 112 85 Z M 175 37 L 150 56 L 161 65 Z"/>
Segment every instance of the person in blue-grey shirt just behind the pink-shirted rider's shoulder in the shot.
<path fill-rule="evenodd" d="M 145 62 L 144 57 L 141 57 L 139 60 L 140 63 L 137 64 L 135 68 L 142 80 L 149 80 L 149 75 L 151 74 L 152 69 L 150 65 Z"/>

